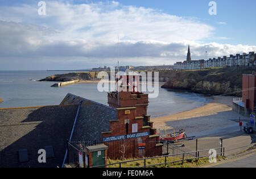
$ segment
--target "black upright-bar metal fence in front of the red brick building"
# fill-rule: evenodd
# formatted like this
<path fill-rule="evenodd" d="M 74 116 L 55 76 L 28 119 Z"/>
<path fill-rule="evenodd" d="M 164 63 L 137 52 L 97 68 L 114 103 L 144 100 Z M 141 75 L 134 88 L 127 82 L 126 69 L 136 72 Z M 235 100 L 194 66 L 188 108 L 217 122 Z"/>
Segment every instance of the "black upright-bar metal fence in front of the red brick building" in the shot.
<path fill-rule="evenodd" d="M 222 147 L 222 139 L 201 138 L 201 139 L 181 139 L 174 141 L 151 141 L 151 140 L 117 140 L 117 141 L 72 141 L 69 142 L 80 151 L 86 151 L 87 146 L 105 144 L 108 146 L 108 158 L 117 159 L 142 159 L 144 157 L 174 155 L 184 152 L 199 151 L 208 148 Z M 144 144 L 143 149 L 139 145 Z M 81 147 L 82 146 L 82 147 Z M 158 146 L 158 147 L 156 147 Z M 69 149 L 72 152 L 72 147 Z M 189 153 L 186 156 L 195 156 Z"/>

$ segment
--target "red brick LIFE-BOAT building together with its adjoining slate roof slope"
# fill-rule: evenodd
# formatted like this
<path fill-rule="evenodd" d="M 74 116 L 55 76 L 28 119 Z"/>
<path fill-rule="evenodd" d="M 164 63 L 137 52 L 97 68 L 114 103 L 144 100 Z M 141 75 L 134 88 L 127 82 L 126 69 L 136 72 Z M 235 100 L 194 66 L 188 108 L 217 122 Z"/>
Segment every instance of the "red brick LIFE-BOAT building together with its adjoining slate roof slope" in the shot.
<path fill-rule="evenodd" d="M 80 104 L 72 141 L 103 143 L 110 159 L 162 155 L 162 144 L 147 115 L 148 94 L 140 93 L 136 82 L 139 76 L 119 76 L 120 80 L 127 91 L 120 87 L 108 93 L 109 106 L 67 94 L 61 105 Z"/>

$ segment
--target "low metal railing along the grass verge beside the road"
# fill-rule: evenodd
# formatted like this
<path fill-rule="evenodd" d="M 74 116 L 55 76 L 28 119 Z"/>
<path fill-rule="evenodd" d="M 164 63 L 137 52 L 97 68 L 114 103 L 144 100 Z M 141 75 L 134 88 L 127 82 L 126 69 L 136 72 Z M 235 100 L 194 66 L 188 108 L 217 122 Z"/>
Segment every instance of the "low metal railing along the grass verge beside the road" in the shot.
<path fill-rule="evenodd" d="M 213 148 L 213 149 L 215 149 L 216 151 L 217 151 L 217 150 L 220 150 L 220 151 L 221 151 L 221 152 L 216 153 L 216 155 L 224 156 L 224 154 L 225 154 L 225 148 L 224 148 L 224 147 Z M 144 159 L 122 161 L 122 162 L 113 163 L 113 164 L 91 166 L 90 168 L 102 168 L 102 167 L 106 167 L 106 166 L 110 166 L 110 165 L 119 165 L 119 168 L 122 168 L 122 164 L 131 163 L 131 162 L 134 162 L 134 161 L 144 161 L 144 166 L 140 166 L 140 167 L 138 167 L 138 168 L 146 168 L 146 167 L 156 166 L 156 165 L 165 165 L 165 166 L 167 166 L 167 164 L 170 164 L 170 163 L 177 163 L 177 162 L 180 162 L 180 161 L 182 161 L 182 164 L 184 164 L 184 161 L 187 161 L 187 160 L 193 160 L 193 159 L 197 159 L 197 160 L 198 160 L 198 159 L 200 159 L 200 158 L 204 158 L 204 157 L 209 157 L 209 156 L 211 156 L 212 153 L 209 153 L 209 150 L 210 150 L 210 149 L 205 149 L 205 150 L 201 150 L 201 151 L 184 152 L 184 153 L 178 153 L 178 154 L 172 154 L 172 155 L 166 155 L 166 156 L 148 157 L 148 158 L 144 158 Z M 208 152 L 208 155 L 200 155 L 200 153 L 205 153 L 205 152 Z M 195 157 L 185 158 L 185 155 L 191 154 L 191 153 L 196 153 L 197 155 L 196 155 Z M 167 161 L 167 157 L 174 157 L 174 156 L 179 156 L 179 155 L 183 156 L 182 159 L 180 159 L 180 160 L 174 160 L 174 161 Z M 149 159 L 159 159 L 159 158 L 163 158 L 163 157 L 164 157 L 164 163 L 146 165 L 146 160 L 149 160 Z"/>

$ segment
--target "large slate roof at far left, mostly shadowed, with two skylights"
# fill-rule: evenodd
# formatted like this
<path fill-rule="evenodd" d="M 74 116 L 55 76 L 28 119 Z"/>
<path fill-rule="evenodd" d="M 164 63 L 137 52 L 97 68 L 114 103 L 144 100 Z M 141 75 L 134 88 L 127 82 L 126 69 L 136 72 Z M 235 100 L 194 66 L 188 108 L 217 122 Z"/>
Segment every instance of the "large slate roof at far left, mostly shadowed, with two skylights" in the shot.
<path fill-rule="evenodd" d="M 62 165 L 78 105 L 0 109 L 0 168 Z M 38 150 L 52 146 L 54 157 L 38 163 Z M 28 161 L 19 162 L 19 150 Z"/>

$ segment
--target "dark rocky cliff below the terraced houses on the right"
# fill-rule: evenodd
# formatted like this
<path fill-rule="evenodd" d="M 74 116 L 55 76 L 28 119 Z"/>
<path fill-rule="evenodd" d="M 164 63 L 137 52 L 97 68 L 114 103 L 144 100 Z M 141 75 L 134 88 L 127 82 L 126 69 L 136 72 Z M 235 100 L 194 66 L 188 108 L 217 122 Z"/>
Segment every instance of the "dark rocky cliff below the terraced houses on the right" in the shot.
<path fill-rule="evenodd" d="M 205 94 L 242 95 L 242 74 L 251 74 L 253 69 L 203 69 L 182 70 L 162 74 L 169 80 L 162 86 Z"/>

